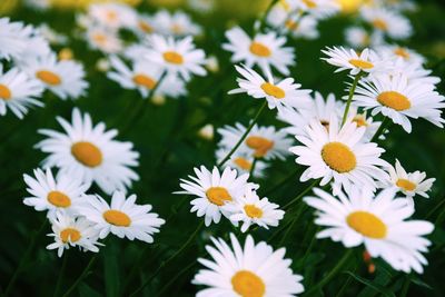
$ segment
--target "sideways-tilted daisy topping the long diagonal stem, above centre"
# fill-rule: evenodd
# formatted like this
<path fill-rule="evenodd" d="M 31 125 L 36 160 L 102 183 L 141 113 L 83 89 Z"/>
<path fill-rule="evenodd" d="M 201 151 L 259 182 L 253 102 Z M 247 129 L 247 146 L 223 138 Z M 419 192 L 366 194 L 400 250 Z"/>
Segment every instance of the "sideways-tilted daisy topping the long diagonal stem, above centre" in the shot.
<path fill-rule="evenodd" d="M 235 66 L 236 70 L 243 76 L 237 78 L 239 88 L 229 93 L 243 93 L 256 99 L 266 98 L 269 109 L 283 107 L 309 108 L 310 90 L 299 89 L 301 85 L 295 83 L 293 78 L 286 78 L 275 82 L 271 73 L 266 71 L 267 80 L 248 67 Z"/>

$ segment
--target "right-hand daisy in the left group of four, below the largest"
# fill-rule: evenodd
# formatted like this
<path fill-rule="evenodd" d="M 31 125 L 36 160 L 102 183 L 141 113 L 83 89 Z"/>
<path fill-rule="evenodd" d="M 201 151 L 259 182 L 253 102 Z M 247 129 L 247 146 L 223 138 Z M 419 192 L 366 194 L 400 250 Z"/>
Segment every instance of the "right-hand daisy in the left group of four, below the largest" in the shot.
<path fill-rule="evenodd" d="M 126 198 L 123 192 L 115 191 L 111 205 L 108 205 L 99 195 L 90 195 L 77 211 L 96 224 L 101 239 L 111 232 L 119 238 L 136 238 L 151 244 L 152 235 L 159 232 L 159 227 L 166 221 L 158 214 L 150 212 L 151 205 L 137 205 L 136 198 L 136 195 Z"/>

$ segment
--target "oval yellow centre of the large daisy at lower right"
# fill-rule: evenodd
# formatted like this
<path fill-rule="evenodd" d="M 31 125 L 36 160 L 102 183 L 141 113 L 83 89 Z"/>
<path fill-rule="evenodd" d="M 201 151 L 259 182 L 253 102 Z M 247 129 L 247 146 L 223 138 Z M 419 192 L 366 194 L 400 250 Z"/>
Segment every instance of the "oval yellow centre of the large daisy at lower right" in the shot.
<path fill-rule="evenodd" d="M 350 228 L 363 236 L 382 239 L 386 237 L 387 227 L 375 215 L 367 211 L 354 211 L 346 218 Z"/>

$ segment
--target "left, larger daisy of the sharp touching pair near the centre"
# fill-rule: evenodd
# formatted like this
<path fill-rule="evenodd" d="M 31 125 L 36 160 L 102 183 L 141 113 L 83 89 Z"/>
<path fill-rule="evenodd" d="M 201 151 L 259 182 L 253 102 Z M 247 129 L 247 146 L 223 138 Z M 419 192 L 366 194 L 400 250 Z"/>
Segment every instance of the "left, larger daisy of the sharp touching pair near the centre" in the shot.
<path fill-rule="evenodd" d="M 192 205 L 190 212 L 197 211 L 198 217 L 205 216 L 206 226 L 211 221 L 218 224 L 221 214 L 228 217 L 229 214 L 222 208 L 225 204 L 236 201 L 249 189 L 258 188 L 257 185 L 247 182 L 248 174 L 238 176 L 237 170 L 229 167 L 226 167 L 222 174 L 216 167 L 211 172 L 204 166 L 194 170 L 196 177 L 189 176 L 191 180 L 180 179 L 179 186 L 184 191 L 175 194 L 198 197 L 190 201 Z"/>

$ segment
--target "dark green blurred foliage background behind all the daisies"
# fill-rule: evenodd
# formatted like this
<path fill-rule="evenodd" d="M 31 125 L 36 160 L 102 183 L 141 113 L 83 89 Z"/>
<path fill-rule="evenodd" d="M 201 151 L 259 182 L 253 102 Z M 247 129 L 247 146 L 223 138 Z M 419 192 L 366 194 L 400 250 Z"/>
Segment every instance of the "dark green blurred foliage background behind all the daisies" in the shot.
<path fill-rule="evenodd" d="M 138 125 L 118 137 L 119 140 L 132 141 L 136 150 L 141 155 L 140 166 L 137 168 L 140 181 L 135 184 L 130 192 L 138 195 L 140 204 L 154 205 L 154 210 L 162 218 L 170 216 L 174 211 L 172 207 L 180 199 L 189 199 L 171 194 L 179 189 L 179 178 L 191 174 L 195 166 L 210 167 L 215 164 L 214 151 L 218 137 L 216 136 L 212 141 L 205 140 L 198 137 L 198 130 L 206 123 L 211 123 L 215 128 L 234 125 L 236 121 L 246 125 L 258 108 L 257 100 L 251 100 L 246 96 L 227 95 L 228 90 L 235 88 L 236 73 L 229 61 L 230 55 L 222 51 L 220 44 L 225 40 L 225 30 L 233 23 L 240 23 L 247 30 L 251 30 L 253 22 L 260 14 L 265 2 L 267 4 L 267 1 L 257 0 L 220 0 L 218 10 L 214 13 L 192 14 L 194 19 L 206 28 L 205 38 L 198 39 L 197 44 L 205 49 L 207 55 L 218 57 L 220 71 L 194 79 L 188 86 L 190 95 L 186 98 L 168 99 L 165 105 L 147 105 L 144 118 Z M 10 9 L 7 13 L 3 12 L 3 16 L 9 16 L 13 20 L 33 24 L 46 22 L 55 30 L 69 36 L 72 36 L 76 30 L 73 10 L 55 9 L 40 12 L 27 9 L 21 2 L 10 0 L 2 0 L 2 4 L 3 9 Z M 155 4 L 162 7 L 166 1 L 141 2 L 138 11 L 154 12 L 158 9 Z M 428 57 L 427 68 L 432 69 L 435 76 L 445 79 L 445 3 L 439 0 L 429 0 L 419 1 L 418 4 L 419 10 L 408 16 L 415 28 L 415 36 L 407 46 Z M 168 8 L 175 9 L 176 4 L 170 3 Z M 323 95 L 334 92 L 337 97 L 345 93 L 346 75 L 334 75 L 333 67 L 319 58 L 320 49 L 324 47 L 344 43 L 344 29 L 352 22 L 352 17 L 339 16 L 320 23 L 320 38 L 317 40 L 289 39 L 288 44 L 294 47 L 297 53 L 297 66 L 293 69 L 293 76 L 304 88 L 320 91 Z M 3 288 L 29 245 L 31 235 L 44 219 L 42 212 L 37 212 L 22 204 L 22 198 L 27 196 L 22 174 L 32 172 L 32 169 L 38 167 L 44 158 L 40 151 L 33 149 L 33 145 L 42 139 L 37 133 L 37 129 L 61 130 L 55 119 L 56 116 L 69 119 L 75 106 L 90 112 L 95 122 L 105 121 L 107 127 L 119 129 L 123 125 L 122 110 L 131 109 L 141 100 L 136 91 L 120 88 L 108 80 L 105 73 L 96 70 L 96 61 L 102 57 L 99 52 L 88 50 L 86 43 L 76 38 L 70 38 L 68 47 L 73 50 L 76 59 L 87 67 L 87 79 L 90 82 L 88 96 L 77 101 L 61 101 L 46 93 L 46 108 L 31 110 L 23 120 L 18 120 L 11 112 L 0 118 L 0 285 Z M 55 49 L 60 50 L 60 48 Z M 443 95 L 445 93 L 444 82 L 438 89 Z M 263 115 L 259 123 L 283 127 L 275 119 L 275 111 Z M 415 121 L 413 126 L 411 135 L 405 133 L 398 126 L 392 126 L 388 140 L 383 142 L 387 150 L 384 158 L 389 162 L 398 158 L 407 170 L 426 171 L 428 177 L 437 179 L 431 192 L 431 199 L 417 198 L 415 215 L 417 218 L 428 217 L 432 221 L 438 221 L 435 232 L 431 236 L 434 245 L 427 254 L 429 266 L 422 276 L 405 276 L 377 260 L 376 273 L 368 274 L 360 258 L 362 249 L 357 248 L 356 261 L 350 263 L 347 270 L 354 271 L 359 278 L 352 279 L 345 296 L 397 296 L 396 293 L 406 284 L 406 279 L 412 281 L 408 296 L 445 295 L 443 281 L 445 279 L 445 216 L 444 206 L 439 205 L 445 199 L 445 132 L 423 120 Z M 267 177 L 256 180 L 260 184 L 260 192 L 267 192 L 295 170 L 296 165 L 291 157 L 286 161 L 274 162 L 267 171 Z M 295 176 L 289 182 L 275 189 L 269 198 L 284 205 L 297 196 L 303 188 L 304 186 L 298 182 L 298 177 Z M 432 212 L 436 206 L 441 208 Z M 438 217 L 438 214 L 442 214 L 442 217 Z M 291 216 L 291 211 L 287 214 L 280 226 L 286 226 Z M 283 234 L 277 232 L 279 228 L 251 232 L 256 240 L 268 240 L 274 236 L 271 245 L 275 248 L 286 246 L 287 257 L 294 260 L 293 269 L 304 275 L 306 287 L 319 281 L 345 253 L 345 248 L 339 244 L 320 240 L 316 242 L 309 255 L 305 255 L 316 231 L 312 218 L 313 211 L 306 210 L 285 240 L 281 240 Z M 154 245 L 119 240 L 113 237 L 108 241 L 107 247 L 102 248 L 100 260 L 93 266 L 92 274 L 81 281 L 76 294 L 126 296 L 139 286 L 141 279 L 149 277 L 162 259 L 184 244 L 189 236 L 187 231 L 192 232 L 198 222 L 199 219 L 195 214 L 189 214 L 189 206 L 186 204 L 177 211 L 172 220 L 162 226 L 161 232 L 155 236 Z M 197 288 L 190 284 L 190 280 L 199 267 L 195 265 L 196 258 L 206 255 L 204 246 L 208 242 L 208 236 L 227 236 L 230 230 L 231 227 L 227 221 L 206 228 L 181 257 L 165 267 L 146 288 L 145 296 L 192 296 Z M 50 227 L 47 227 L 47 231 L 50 231 Z M 50 238 L 40 237 L 37 240 L 38 249 L 32 251 L 32 260 L 26 265 L 20 275 L 13 296 L 52 295 L 61 260 L 57 258 L 55 251 L 46 249 L 51 241 Z M 76 249 L 69 250 L 63 289 L 68 288 L 80 275 L 91 255 Z M 140 267 L 134 270 L 136 263 L 140 263 Z M 171 279 L 182 268 L 188 269 L 177 279 Z M 130 280 L 128 280 L 129 275 Z M 346 274 L 339 275 L 326 287 L 326 296 L 335 296 L 346 279 Z"/>

